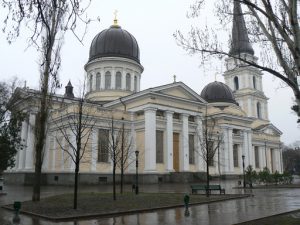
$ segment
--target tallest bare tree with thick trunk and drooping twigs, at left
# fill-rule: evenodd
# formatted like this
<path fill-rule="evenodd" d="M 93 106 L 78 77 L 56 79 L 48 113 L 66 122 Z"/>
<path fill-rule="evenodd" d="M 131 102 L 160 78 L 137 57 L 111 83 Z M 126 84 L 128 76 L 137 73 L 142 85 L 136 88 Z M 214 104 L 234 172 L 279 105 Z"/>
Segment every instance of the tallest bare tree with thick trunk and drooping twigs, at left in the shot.
<path fill-rule="evenodd" d="M 11 43 L 20 35 L 24 25 L 30 33 L 30 46 L 40 53 L 40 92 L 39 112 L 35 128 L 35 179 L 33 185 L 33 201 L 40 200 L 41 168 L 45 145 L 46 126 L 51 97 L 49 87 L 59 87 L 58 72 L 61 66 L 60 51 L 63 37 L 71 31 L 79 41 L 83 37 L 77 35 L 78 22 L 85 27 L 90 20 L 84 19 L 86 7 L 82 0 L 23 1 L 2 0 L 2 6 L 8 9 L 4 20 L 4 31 Z M 85 31 L 84 31 L 85 34 Z M 53 85 L 51 85 L 53 84 Z"/>

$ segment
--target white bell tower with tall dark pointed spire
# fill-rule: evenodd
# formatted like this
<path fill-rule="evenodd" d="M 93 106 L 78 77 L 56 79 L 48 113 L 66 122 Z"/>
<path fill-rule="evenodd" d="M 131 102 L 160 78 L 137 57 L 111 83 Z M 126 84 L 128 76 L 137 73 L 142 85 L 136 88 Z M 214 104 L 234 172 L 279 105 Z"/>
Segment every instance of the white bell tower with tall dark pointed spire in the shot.
<path fill-rule="evenodd" d="M 249 41 L 242 8 L 239 1 L 234 1 L 232 43 L 226 59 L 225 83 L 234 91 L 239 106 L 247 116 L 260 120 L 269 120 L 268 98 L 263 92 L 262 72 L 243 62 L 256 63 L 254 50 Z"/>

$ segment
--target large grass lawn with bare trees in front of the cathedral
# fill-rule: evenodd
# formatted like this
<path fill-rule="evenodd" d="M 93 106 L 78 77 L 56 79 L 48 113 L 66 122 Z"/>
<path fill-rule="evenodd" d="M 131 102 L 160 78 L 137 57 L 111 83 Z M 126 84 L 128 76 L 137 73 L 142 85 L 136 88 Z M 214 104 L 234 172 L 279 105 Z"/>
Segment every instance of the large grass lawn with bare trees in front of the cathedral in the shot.
<path fill-rule="evenodd" d="M 190 195 L 190 204 L 208 203 L 247 195 Z M 183 193 L 134 193 L 118 194 L 113 201 L 111 193 L 80 193 L 78 208 L 73 209 L 73 195 L 63 194 L 41 199 L 40 202 L 22 202 L 21 212 L 37 214 L 48 219 L 71 219 L 88 216 L 105 216 L 114 213 L 183 206 Z M 12 207 L 10 205 L 9 207 Z"/>

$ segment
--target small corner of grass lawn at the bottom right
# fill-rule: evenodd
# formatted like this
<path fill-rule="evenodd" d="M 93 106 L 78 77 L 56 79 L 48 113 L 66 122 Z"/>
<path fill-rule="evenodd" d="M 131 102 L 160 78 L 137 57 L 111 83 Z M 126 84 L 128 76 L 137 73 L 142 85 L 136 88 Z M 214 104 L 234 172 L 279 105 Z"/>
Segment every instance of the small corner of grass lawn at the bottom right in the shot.
<path fill-rule="evenodd" d="M 277 216 L 266 217 L 237 225 L 299 225 L 300 210 Z"/>

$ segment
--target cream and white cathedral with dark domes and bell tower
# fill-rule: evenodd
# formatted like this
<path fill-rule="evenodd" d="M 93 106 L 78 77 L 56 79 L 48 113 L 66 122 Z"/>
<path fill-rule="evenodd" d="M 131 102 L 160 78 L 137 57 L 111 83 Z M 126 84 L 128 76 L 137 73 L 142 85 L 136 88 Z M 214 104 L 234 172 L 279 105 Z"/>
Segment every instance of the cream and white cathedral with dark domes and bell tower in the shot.
<path fill-rule="evenodd" d="M 234 4 L 230 55 L 256 62 L 240 3 Z M 175 80 L 141 90 L 144 67 L 135 37 L 116 19 L 98 33 L 84 65 L 86 93 L 81 113 L 86 134 L 82 137 L 80 183 L 110 183 L 111 150 L 121 142 L 127 181 L 133 179 L 136 169 L 143 183 L 193 181 L 207 168 L 205 130 L 210 131 L 208 141 L 217 147 L 209 162 L 212 176 L 239 176 L 249 165 L 256 171 L 268 167 L 271 172 L 282 172 L 282 133 L 269 120 L 261 71 L 233 57 L 225 63 L 225 83 L 211 82 L 201 93 Z M 39 92 L 18 91 L 27 97 L 20 103 L 28 114 L 20 134 L 26 147 L 17 153 L 16 165 L 7 170 L 6 180 L 26 184 L 34 171 Z M 80 102 L 71 82 L 64 95 L 52 96 L 42 167 L 46 184 L 73 183 L 72 146 L 77 136 L 72 128 L 76 123 L 70 120 L 79 113 Z M 122 141 L 118 131 L 122 131 Z M 118 167 L 117 176 L 120 171 Z"/>

